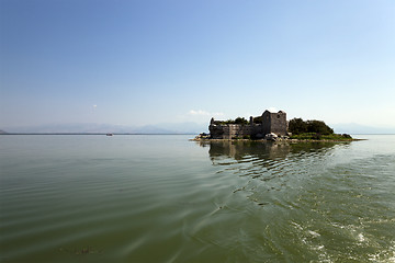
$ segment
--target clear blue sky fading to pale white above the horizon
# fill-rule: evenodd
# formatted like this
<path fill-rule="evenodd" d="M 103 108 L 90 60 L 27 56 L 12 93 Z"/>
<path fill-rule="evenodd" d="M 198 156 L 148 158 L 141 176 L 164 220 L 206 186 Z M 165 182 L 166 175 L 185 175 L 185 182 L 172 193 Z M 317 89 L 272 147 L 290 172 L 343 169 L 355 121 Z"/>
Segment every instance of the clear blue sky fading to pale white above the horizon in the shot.
<path fill-rule="evenodd" d="M 393 0 L 0 0 L 0 129 L 287 118 L 395 127 Z"/>

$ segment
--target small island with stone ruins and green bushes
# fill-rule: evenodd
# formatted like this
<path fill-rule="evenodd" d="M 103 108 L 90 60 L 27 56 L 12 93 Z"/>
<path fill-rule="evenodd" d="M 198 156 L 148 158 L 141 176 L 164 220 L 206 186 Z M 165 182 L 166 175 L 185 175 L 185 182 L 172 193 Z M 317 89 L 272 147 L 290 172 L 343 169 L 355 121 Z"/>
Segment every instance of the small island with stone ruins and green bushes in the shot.
<path fill-rule="evenodd" d="M 210 134 L 200 134 L 193 140 L 272 140 L 272 141 L 351 141 L 348 134 L 335 134 L 323 121 L 286 121 L 286 113 L 264 111 L 261 116 L 228 121 L 211 119 Z"/>

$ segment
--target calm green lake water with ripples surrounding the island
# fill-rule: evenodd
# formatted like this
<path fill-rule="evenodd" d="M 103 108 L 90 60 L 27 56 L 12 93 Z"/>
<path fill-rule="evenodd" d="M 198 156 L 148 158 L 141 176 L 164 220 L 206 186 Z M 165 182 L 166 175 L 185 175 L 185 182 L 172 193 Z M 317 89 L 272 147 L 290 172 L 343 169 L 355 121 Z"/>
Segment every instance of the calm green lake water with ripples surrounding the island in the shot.
<path fill-rule="evenodd" d="M 0 136 L 0 262 L 395 262 L 395 136 Z"/>

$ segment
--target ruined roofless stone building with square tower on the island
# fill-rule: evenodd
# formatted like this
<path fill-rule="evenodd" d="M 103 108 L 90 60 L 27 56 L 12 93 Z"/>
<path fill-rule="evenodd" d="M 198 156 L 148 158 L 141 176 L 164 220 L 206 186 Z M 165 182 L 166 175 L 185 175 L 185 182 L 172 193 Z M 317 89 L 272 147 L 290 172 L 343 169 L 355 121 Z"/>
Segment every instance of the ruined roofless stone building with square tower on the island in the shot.
<path fill-rule="evenodd" d="M 208 130 L 212 139 L 233 139 L 233 138 L 263 138 L 267 134 L 276 134 L 284 136 L 287 134 L 286 113 L 272 113 L 264 111 L 262 116 L 256 117 L 259 123 L 255 122 L 251 116 L 249 124 L 225 124 L 223 121 L 211 119 Z"/>

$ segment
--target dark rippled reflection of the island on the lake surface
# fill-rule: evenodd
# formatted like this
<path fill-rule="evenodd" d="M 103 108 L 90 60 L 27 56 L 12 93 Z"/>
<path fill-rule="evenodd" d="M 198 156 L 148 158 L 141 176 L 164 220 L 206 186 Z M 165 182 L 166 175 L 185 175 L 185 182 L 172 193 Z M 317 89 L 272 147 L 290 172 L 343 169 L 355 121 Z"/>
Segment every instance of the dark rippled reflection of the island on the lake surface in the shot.
<path fill-rule="evenodd" d="M 199 141 L 201 147 L 210 147 L 213 165 L 236 169 L 240 176 L 268 181 L 275 175 L 284 176 L 303 172 L 308 162 L 320 159 L 329 161 L 335 148 L 347 148 L 349 142 L 272 142 L 272 141 Z M 315 163 L 315 162 L 314 162 Z M 316 163 L 315 163 L 316 164 Z"/>

